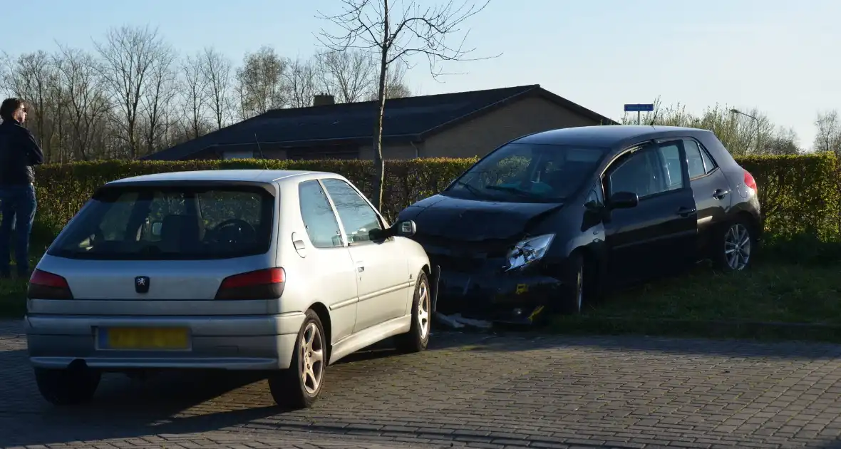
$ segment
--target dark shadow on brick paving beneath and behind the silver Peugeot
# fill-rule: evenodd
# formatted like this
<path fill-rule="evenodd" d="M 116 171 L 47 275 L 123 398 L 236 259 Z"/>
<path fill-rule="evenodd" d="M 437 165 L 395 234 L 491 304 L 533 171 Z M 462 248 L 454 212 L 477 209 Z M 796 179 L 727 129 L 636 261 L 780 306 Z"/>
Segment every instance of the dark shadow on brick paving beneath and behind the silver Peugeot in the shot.
<path fill-rule="evenodd" d="M 375 362 L 385 368 L 383 376 L 388 376 L 389 369 L 399 366 L 395 354 L 389 341 L 383 341 L 343 358 L 332 366 L 332 373 L 328 371 L 328 375 L 333 375 L 325 385 L 320 403 L 329 406 L 332 394 L 354 388 L 361 383 L 360 377 L 368 378 L 370 374 L 367 367 L 341 367 L 356 362 L 368 366 L 367 362 Z M 389 358 L 394 362 L 377 360 Z M 282 427 L 285 431 L 325 433 L 341 429 L 314 426 L 301 412 L 276 406 L 262 373 L 169 371 L 145 380 L 109 373 L 103 376 L 91 404 L 69 407 L 55 406 L 41 398 L 26 351 L 0 351 L 0 378 L 6 383 L 0 388 L 0 446 L 3 447 L 109 439 L 143 439 L 143 444 L 148 445 L 154 444 L 157 435 L 233 430 L 261 423 L 269 417 L 282 418 L 284 424 L 265 424 L 264 429 Z M 316 412 L 319 406 L 315 405 Z"/>

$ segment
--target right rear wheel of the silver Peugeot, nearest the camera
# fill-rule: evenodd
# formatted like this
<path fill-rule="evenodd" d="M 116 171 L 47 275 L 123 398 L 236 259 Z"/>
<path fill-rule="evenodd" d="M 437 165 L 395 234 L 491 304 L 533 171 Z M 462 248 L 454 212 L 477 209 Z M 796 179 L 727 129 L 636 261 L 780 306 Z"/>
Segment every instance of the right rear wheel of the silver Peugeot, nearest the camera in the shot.
<path fill-rule="evenodd" d="M 315 311 L 307 310 L 288 369 L 268 378 L 275 404 L 288 409 L 307 409 L 315 404 L 324 388 L 327 348 L 324 325 Z"/>

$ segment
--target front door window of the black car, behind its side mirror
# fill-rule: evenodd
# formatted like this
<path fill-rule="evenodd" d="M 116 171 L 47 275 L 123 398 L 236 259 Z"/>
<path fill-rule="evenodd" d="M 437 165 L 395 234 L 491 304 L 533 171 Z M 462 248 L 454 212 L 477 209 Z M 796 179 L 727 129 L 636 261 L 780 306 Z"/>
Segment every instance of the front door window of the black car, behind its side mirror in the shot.
<path fill-rule="evenodd" d="M 680 147 L 667 142 L 633 153 L 611 170 L 608 185 L 610 194 L 632 192 L 639 198 L 683 188 Z"/>

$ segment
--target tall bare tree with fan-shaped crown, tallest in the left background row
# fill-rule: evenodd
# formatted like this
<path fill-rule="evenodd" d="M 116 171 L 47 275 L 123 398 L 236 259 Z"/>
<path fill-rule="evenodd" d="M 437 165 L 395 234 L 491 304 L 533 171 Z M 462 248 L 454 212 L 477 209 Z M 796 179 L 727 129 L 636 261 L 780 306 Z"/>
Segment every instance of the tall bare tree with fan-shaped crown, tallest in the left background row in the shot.
<path fill-rule="evenodd" d="M 114 103 L 119 107 L 117 124 L 122 129 L 121 135 L 129 155 L 134 159 L 139 155 L 137 128 L 143 112 L 141 108 L 147 109 L 147 115 L 158 117 L 157 102 L 151 103 L 151 111 L 150 103 L 147 101 L 144 105 L 143 102 L 144 98 L 149 99 L 147 91 L 150 87 L 153 91 L 161 87 L 164 79 L 162 69 L 166 65 L 161 59 L 168 57 L 170 49 L 161 40 L 157 29 L 149 27 L 108 29 L 105 41 L 94 45 L 103 58 L 103 77 L 108 82 Z M 151 94 L 151 98 L 157 96 L 155 92 Z M 150 126 L 154 129 L 154 125 Z"/>

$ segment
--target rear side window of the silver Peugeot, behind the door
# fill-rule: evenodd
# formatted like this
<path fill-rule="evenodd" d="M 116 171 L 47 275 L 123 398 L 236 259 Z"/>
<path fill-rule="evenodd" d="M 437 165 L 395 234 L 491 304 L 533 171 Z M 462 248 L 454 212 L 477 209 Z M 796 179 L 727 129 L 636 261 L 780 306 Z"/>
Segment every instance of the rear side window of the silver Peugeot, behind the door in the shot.
<path fill-rule="evenodd" d="M 304 219 L 309 241 L 316 248 L 342 246 L 341 230 L 330 201 L 318 181 L 304 181 L 298 185 L 301 218 Z"/>

